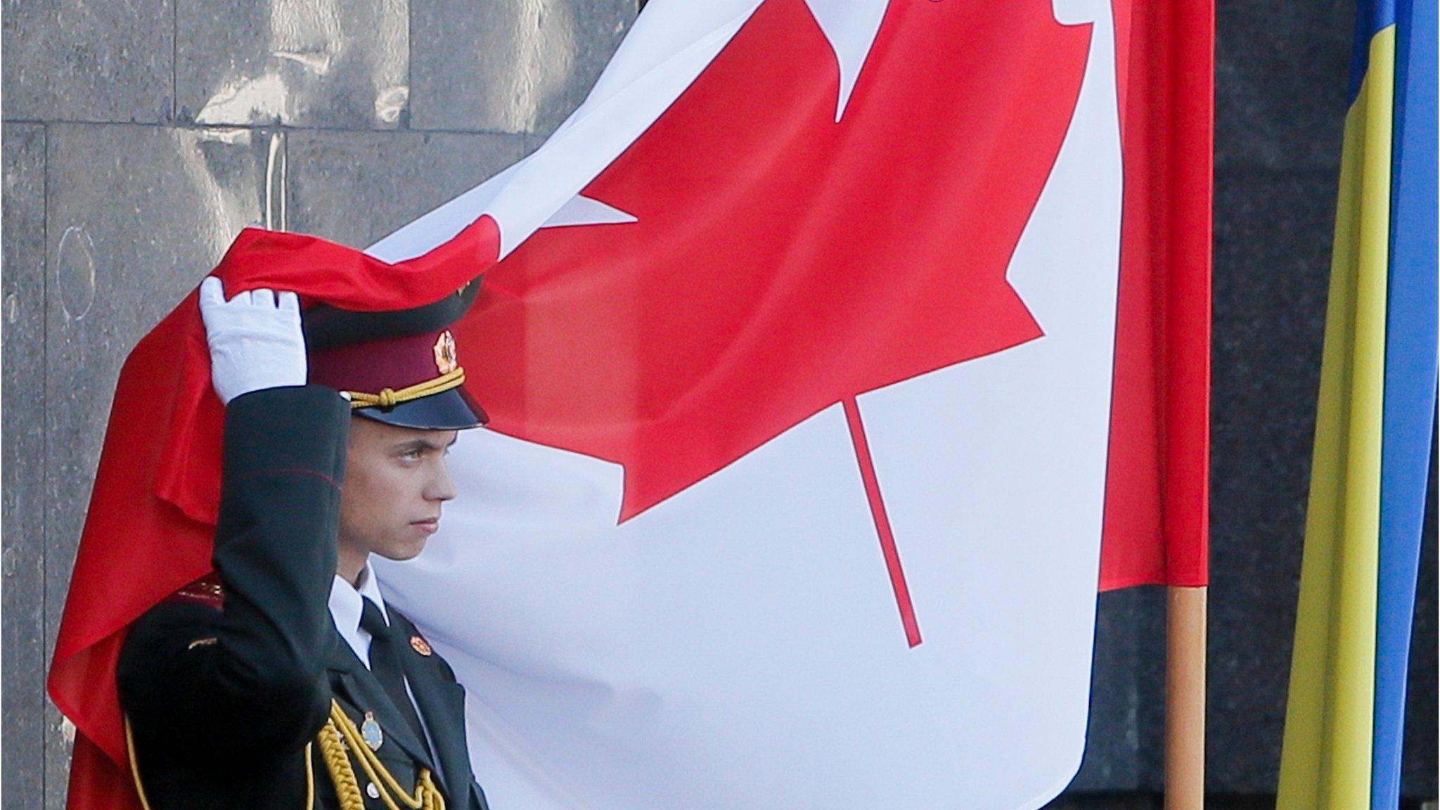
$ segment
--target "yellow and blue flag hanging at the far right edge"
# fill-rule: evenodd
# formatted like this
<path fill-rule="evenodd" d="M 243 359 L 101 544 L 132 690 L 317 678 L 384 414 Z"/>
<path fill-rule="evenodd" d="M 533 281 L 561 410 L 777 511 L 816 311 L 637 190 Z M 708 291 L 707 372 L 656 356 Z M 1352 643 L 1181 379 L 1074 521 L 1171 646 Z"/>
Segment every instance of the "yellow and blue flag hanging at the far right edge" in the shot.
<path fill-rule="evenodd" d="M 1279 810 L 1400 801 L 1436 412 L 1436 6 L 1361 1 Z"/>

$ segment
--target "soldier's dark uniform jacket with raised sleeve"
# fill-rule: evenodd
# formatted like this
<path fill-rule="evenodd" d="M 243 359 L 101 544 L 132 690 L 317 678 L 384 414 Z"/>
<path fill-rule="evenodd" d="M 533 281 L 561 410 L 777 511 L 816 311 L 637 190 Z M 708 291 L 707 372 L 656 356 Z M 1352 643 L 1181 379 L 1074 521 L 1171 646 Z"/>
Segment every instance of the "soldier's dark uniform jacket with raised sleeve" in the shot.
<path fill-rule="evenodd" d="M 145 613 L 120 657 L 153 810 L 341 807 L 318 742 L 327 724 L 338 728 L 333 702 L 351 729 L 382 738 L 374 755 L 410 797 L 426 768 L 446 810 L 485 810 L 451 667 L 386 608 L 400 638 L 415 640 L 397 647 L 432 757 L 330 617 L 348 427 L 348 404 L 323 386 L 256 391 L 226 408 L 216 578 Z M 338 751 L 363 806 L 389 810 L 350 748 Z"/>

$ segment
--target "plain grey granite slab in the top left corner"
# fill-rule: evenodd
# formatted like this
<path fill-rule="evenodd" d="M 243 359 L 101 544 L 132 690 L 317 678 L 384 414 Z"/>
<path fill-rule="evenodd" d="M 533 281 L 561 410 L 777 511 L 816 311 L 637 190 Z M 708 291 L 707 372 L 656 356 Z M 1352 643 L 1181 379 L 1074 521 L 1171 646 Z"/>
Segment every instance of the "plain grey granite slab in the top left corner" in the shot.
<path fill-rule="evenodd" d="M 166 121 L 171 0 L 6 3 L 7 121 Z"/>

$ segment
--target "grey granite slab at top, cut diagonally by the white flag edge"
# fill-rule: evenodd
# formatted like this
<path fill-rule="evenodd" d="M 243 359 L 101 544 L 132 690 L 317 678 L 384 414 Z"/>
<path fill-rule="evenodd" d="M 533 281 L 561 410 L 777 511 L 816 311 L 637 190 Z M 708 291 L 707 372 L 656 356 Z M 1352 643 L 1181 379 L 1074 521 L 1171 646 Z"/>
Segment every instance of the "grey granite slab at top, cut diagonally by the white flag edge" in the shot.
<path fill-rule="evenodd" d="M 549 134 L 585 99 L 634 19 L 634 0 L 416 3 L 410 125 Z"/>

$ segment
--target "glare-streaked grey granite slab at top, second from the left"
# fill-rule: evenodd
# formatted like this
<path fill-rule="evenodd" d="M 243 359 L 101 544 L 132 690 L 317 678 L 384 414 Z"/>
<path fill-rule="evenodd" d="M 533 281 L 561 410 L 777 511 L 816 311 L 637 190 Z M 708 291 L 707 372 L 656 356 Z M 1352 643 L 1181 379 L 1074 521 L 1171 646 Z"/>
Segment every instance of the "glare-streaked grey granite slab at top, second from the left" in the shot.
<path fill-rule="evenodd" d="M 402 125 L 408 0 L 176 0 L 183 123 L 350 130 Z"/>

